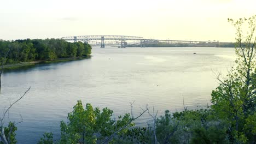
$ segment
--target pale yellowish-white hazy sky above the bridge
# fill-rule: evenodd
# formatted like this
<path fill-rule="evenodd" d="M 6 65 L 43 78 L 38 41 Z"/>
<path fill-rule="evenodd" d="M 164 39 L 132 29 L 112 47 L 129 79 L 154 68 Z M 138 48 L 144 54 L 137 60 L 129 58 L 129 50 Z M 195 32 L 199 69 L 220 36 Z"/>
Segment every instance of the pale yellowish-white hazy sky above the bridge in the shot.
<path fill-rule="evenodd" d="M 228 17 L 256 14 L 256 0 L 0 0 L 0 39 L 134 35 L 234 41 Z"/>

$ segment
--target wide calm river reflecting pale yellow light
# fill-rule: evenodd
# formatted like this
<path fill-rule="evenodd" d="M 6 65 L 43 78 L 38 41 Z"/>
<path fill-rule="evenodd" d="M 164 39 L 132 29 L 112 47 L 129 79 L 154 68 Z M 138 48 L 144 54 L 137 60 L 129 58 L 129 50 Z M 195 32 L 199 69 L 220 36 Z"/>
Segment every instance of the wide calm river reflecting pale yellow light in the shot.
<path fill-rule="evenodd" d="M 193 54 L 193 53 L 196 54 Z M 218 86 L 217 71 L 232 67 L 235 50 L 216 47 L 92 47 L 90 59 L 36 65 L 7 71 L 2 77 L 0 111 L 27 88 L 31 90 L 14 105 L 6 121 L 20 120 L 18 143 L 36 143 L 44 132 L 60 137 L 60 121 L 77 100 L 100 108 L 108 107 L 114 116 L 139 107 L 155 107 L 159 116 L 165 110 L 178 111 L 211 105 L 211 92 Z M 0 113 L 1 113 L 0 112 Z M 146 125 L 148 113 L 137 121 Z"/>

